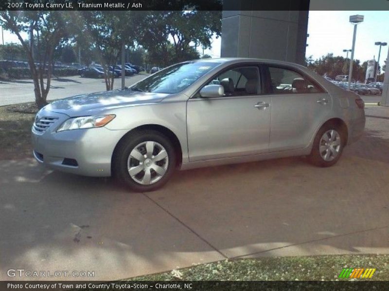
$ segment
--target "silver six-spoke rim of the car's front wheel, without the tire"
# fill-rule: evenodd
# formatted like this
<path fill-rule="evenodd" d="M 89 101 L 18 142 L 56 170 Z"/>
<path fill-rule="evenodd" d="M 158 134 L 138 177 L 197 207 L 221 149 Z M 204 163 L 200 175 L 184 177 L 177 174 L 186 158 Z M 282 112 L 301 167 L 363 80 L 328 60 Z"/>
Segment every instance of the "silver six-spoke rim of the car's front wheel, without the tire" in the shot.
<path fill-rule="evenodd" d="M 127 159 L 128 174 L 142 185 L 159 181 L 165 175 L 168 165 L 166 149 L 154 141 L 141 142 L 132 149 Z"/>

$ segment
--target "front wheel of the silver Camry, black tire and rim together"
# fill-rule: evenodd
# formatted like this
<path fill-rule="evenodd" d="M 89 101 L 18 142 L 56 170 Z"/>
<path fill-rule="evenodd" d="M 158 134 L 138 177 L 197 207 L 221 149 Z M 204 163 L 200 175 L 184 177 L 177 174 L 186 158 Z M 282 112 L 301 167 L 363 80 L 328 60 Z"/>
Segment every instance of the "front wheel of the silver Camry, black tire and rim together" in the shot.
<path fill-rule="evenodd" d="M 175 148 L 166 136 L 155 130 L 136 131 L 115 149 L 112 172 L 130 190 L 154 191 L 172 176 L 176 160 Z"/>

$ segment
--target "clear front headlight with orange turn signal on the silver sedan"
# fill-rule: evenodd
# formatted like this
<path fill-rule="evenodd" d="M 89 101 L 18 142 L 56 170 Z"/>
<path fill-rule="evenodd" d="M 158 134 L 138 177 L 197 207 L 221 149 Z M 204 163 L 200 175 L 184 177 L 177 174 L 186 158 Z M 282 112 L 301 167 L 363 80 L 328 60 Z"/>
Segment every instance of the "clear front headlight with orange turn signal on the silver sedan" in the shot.
<path fill-rule="evenodd" d="M 72 129 L 90 129 L 105 126 L 108 122 L 115 118 L 116 115 L 95 115 L 70 118 L 66 120 L 57 131 L 72 130 Z"/>

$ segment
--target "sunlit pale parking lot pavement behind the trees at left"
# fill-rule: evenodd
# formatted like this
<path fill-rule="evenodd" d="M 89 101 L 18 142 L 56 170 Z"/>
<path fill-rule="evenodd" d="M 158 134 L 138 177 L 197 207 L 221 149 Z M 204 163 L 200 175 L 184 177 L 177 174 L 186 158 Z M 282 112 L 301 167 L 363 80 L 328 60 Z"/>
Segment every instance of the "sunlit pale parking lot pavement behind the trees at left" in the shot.
<path fill-rule="evenodd" d="M 125 77 L 125 85 L 130 86 L 147 76 L 148 74 L 138 74 Z M 119 89 L 121 86 L 122 80 L 116 78 L 113 88 Z M 35 101 L 34 83 L 31 79 L 0 80 L 0 91 L 0 106 Z M 106 91 L 104 79 L 81 78 L 80 76 L 55 78 L 51 81 L 48 100 L 101 91 Z"/>

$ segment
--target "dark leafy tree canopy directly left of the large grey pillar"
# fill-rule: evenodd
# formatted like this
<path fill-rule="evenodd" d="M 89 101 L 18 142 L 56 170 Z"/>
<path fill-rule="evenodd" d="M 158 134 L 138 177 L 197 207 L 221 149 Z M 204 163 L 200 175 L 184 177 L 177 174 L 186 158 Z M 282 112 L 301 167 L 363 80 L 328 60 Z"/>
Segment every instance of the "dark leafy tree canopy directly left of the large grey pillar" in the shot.
<path fill-rule="evenodd" d="M 143 21 L 139 43 L 148 62 L 159 66 L 198 58 L 195 47 L 211 48 L 212 35 L 221 34 L 220 11 L 148 12 Z"/>

